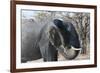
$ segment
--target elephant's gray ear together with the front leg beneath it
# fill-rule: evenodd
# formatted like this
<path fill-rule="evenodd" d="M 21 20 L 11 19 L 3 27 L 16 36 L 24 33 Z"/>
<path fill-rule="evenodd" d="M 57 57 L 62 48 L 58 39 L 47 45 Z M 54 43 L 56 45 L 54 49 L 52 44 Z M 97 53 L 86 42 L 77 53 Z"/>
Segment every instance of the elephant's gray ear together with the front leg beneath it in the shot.
<path fill-rule="evenodd" d="M 43 60 L 57 61 L 58 50 L 56 49 L 56 47 L 60 46 L 61 40 L 53 22 L 51 22 L 50 24 L 46 24 L 42 28 L 38 40 Z"/>

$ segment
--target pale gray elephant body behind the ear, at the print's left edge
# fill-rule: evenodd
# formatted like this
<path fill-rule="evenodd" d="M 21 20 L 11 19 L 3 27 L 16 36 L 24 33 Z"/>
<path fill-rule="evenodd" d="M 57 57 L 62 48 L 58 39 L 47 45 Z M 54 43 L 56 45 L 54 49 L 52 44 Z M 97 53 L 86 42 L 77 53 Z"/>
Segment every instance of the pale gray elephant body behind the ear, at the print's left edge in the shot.
<path fill-rule="evenodd" d="M 27 62 L 41 58 L 40 49 L 34 49 L 36 39 L 43 25 L 34 20 L 24 19 L 21 26 L 21 62 Z"/>

